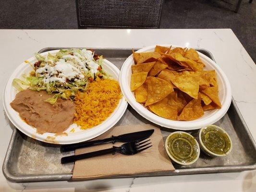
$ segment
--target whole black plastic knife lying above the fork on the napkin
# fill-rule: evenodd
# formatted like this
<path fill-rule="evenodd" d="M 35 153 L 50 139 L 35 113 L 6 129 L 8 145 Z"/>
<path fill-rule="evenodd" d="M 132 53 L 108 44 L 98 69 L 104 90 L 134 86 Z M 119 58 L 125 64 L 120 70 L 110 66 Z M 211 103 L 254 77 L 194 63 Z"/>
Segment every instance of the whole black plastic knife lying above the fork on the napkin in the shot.
<path fill-rule="evenodd" d="M 66 144 L 61 146 L 61 152 L 73 151 L 75 149 L 94 146 L 98 144 L 108 144 L 108 143 L 114 144 L 115 142 L 122 142 L 122 143 L 133 142 L 133 141 L 148 138 L 150 137 L 150 135 L 153 134 L 153 132 L 154 130 L 150 129 L 150 130 L 141 131 L 141 132 L 126 133 L 119 136 L 112 135 L 112 137 L 110 138 L 96 140 L 96 141 L 88 141 L 88 142 L 83 142 L 78 144 Z"/>

